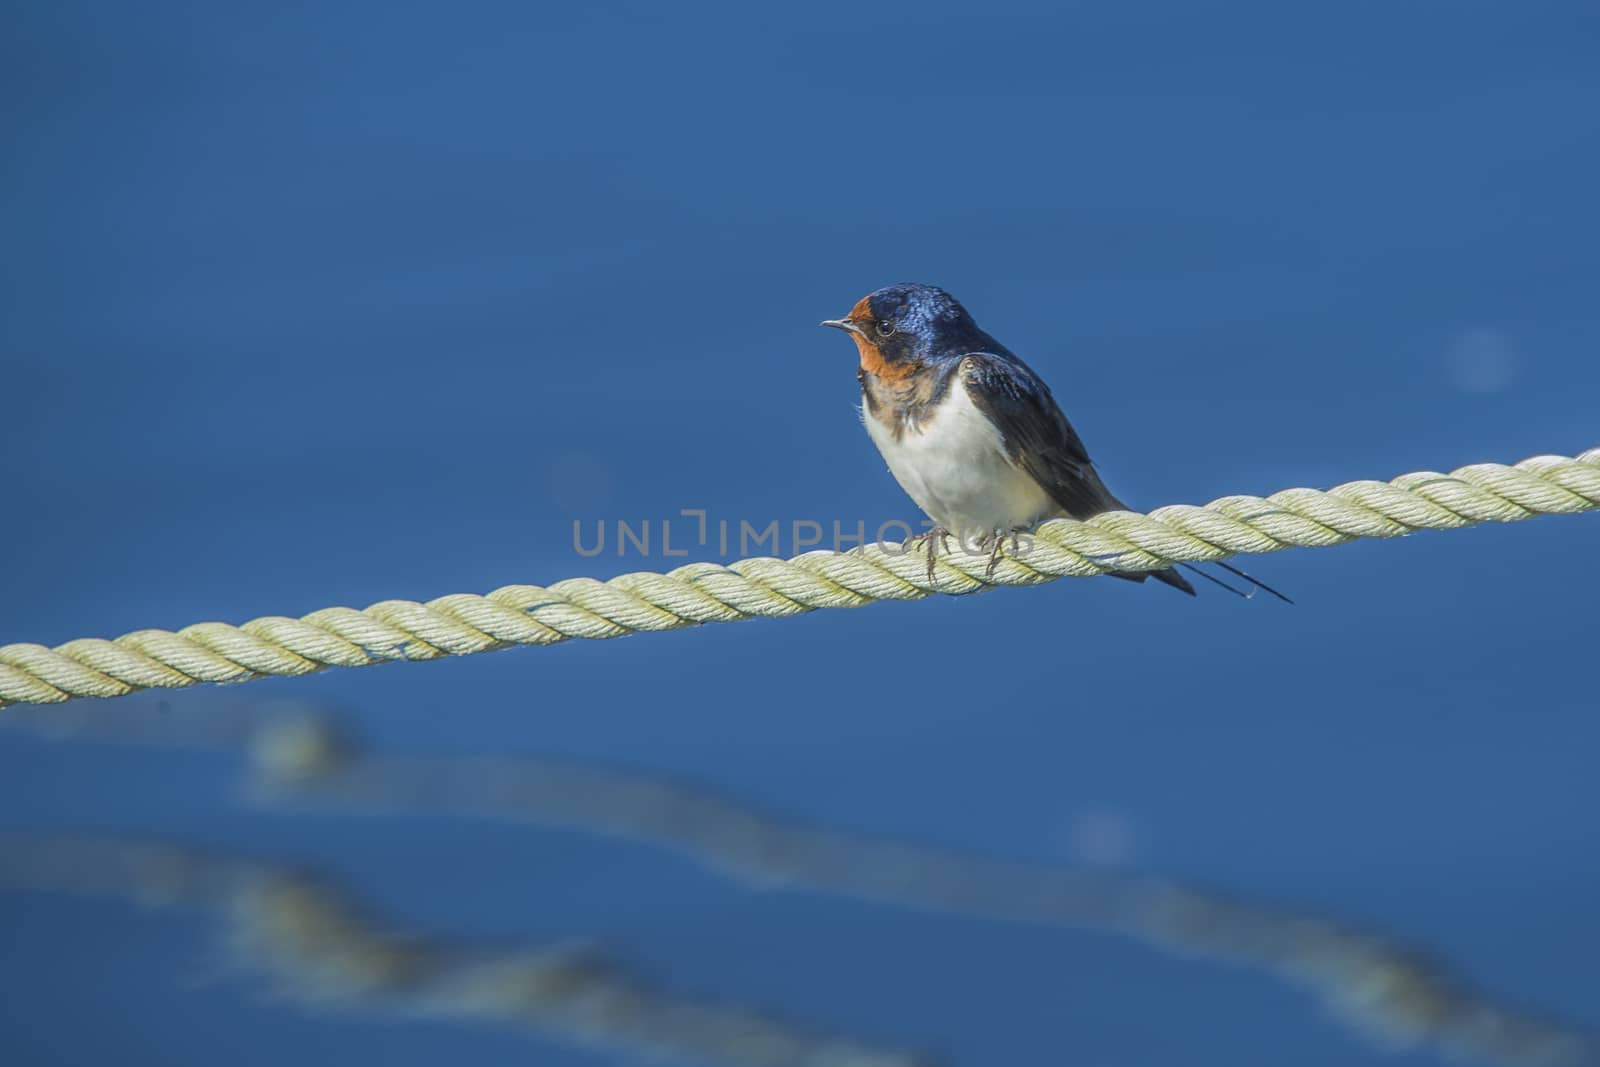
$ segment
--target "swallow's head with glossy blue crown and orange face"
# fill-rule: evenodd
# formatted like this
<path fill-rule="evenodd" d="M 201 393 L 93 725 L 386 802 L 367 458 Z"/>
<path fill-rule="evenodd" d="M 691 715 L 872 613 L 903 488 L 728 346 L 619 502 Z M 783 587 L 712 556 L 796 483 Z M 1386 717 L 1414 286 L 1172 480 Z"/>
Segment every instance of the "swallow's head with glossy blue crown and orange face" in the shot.
<path fill-rule="evenodd" d="M 941 357 L 965 355 L 992 344 L 960 302 L 941 288 L 890 285 L 861 298 L 843 318 L 824 326 L 850 333 L 861 368 L 898 381 Z"/>

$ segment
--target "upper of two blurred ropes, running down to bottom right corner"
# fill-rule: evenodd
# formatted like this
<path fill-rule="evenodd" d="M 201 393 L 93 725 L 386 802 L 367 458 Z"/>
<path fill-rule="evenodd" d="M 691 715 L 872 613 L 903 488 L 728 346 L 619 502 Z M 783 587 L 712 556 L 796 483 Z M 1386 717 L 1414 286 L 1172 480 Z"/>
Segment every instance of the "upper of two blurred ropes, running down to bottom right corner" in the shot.
<path fill-rule="evenodd" d="M 245 798 L 270 811 L 456 816 L 565 829 L 670 849 L 718 878 L 752 889 L 806 891 L 933 913 L 1104 931 L 1162 952 L 1261 969 L 1314 993 L 1338 1019 L 1379 1045 L 1430 1046 L 1506 1067 L 1600 1064 L 1595 1035 L 1499 1003 L 1462 982 L 1440 960 L 1394 937 L 1304 909 L 1274 907 L 1154 875 L 1013 862 L 806 827 L 643 774 L 526 757 L 373 752 L 339 731 L 320 709 L 298 702 L 229 710 L 222 715 L 214 707 L 141 701 L 117 710 L 35 707 L 18 709 L 0 728 L 80 742 L 245 752 L 254 771 Z M 32 853 L 27 856 L 27 864 L 8 861 L 0 837 L 0 886 L 77 888 L 59 875 L 32 875 L 40 867 Z M 43 864 L 42 870 L 56 867 Z M 99 885 L 96 878 L 109 878 L 114 886 L 130 881 L 110 859 L 74 870 L 77 878 L 90 880 L 82 888 Z M 149 878 L 133 881 L 160 885 Z M 355 966 L 362 958 L 386 958 L 376 952 L 366 957 L 330 952 L 339 973 L 363 973 Z M 304 968 L 296 973 L 301 981 L 315 977 L 315 971 Z"/>

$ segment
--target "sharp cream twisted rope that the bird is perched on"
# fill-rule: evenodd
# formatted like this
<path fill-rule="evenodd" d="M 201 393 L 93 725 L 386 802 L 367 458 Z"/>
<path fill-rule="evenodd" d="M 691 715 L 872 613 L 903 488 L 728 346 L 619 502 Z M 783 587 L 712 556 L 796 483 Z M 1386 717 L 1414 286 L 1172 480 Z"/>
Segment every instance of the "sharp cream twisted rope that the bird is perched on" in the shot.
<path fill-rule="evenodd" d="M 850 552 L 806 552 L 792 560 L 690 563 L 666 574 L 622 574 L 605 582 L 571 577 L 547 587 L 506 585 L 486 597 L 384 600 L 363 611 L 323 608 L 301 619 L 198 622 L 176 633 L 134 630 L 114 641 L 82 638 L 56 648 L 5 645 L 0 707 L 467 656 L 574 637 L 786 617 L 818 608 L 970 593 L 990 585 L 1037 585 L 1110 571 L 1157 571 L 1237 553 L 1398 537 L 1418 530 L 1458 530 L 1597 507 L 1600 448 L 1592 448 L 1576 458 L 1534 456 L 1512 467 L 1474 464 L 1448 475 L 1416 472 L 1390 482 L 1347 482 L 1326 491 L 1224 496 L 1205 507 L 1174 504 L 1149 515 L 1058 518 L 1034 531 L 1026 558 L 1008 553 L 992 574 L 987 574 L 987 552 L 946 550 L 930 577 L 922 552 L 867 544 Z"/>

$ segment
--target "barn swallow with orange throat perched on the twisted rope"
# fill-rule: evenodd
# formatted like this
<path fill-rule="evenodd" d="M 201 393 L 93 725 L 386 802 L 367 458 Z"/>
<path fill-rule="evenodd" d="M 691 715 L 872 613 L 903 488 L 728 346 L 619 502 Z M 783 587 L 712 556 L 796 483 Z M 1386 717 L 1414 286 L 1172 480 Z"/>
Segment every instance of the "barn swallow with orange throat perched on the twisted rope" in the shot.
<path fill-rule="evenodd" d="M 1046 518 L 1126 510 L 1101 482 L 1045 381 L 979 330 L 944 290 L 891 285 L 822 325 L 846 331 L 856 342 L 867 434 L 894 480 L 934 523 L 928 534 L 930 581 L 936 539 L 954 534 L 962 544 L 992 545 L 992 574 L 1006 536 Z M 1219 566 L 1288 600 L 1227 563 Z M 1173 568 L 1115 574 L 1134 582 L 1154 577 L 1195 595 Z"/>

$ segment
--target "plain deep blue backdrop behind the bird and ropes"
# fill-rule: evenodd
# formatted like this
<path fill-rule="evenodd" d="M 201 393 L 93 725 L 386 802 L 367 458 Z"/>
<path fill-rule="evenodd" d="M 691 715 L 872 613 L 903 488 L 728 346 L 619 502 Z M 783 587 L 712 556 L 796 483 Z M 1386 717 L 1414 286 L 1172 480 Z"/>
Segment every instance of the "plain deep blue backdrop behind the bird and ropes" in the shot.
<path fill-rule="evenodd" d="M 1592 5 L 58 0 L 8 24 L 0 643 L 670 565 L 579 558 L 574 518 L 914 520 L 851 346 L 816 328 L 898 280 L 1024 355 L 1141 507 L 1600 445 Z M 1078 859 L 1072 827 L 1110 817 L 1134 870 L 1390 933 L 1600 1029 L 1597 533 L 1250 561 L 1296 608 L 1069 581 L 230 699 L 1018 859 Z M 250 814 L 230 781 L 8 737 L 0 824 L 306 861 L 419 928 L 598 937 L 664 987 L 952 1064 L 1437 1062 L 1104 934 L 750 894 L 581 835 Z M 197 982 L 182 917 L 3 915 L 8 1062 L 530 1054 Z"/>

